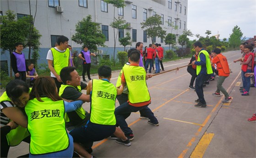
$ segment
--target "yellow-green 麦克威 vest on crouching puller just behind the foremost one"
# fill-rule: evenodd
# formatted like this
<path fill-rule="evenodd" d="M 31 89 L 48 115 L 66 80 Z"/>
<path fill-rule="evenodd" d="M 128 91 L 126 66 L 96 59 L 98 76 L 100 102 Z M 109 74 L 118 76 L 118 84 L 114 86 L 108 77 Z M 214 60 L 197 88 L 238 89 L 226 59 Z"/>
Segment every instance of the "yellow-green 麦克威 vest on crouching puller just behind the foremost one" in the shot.
<path fill-rule="evenodd" d="M 101 79 L 93 79 L 90 121 L 100 125 L 116 125 L 114 114 L 116 97 L 117 88 L 114 84 Z"/>

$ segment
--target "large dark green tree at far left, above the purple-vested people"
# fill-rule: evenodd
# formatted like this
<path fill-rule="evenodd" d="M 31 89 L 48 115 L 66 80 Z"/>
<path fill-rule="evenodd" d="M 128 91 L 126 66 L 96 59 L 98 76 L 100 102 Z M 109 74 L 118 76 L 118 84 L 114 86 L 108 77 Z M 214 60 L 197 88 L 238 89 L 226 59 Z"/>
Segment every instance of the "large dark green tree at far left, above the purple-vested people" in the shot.
<path fill-rule="evenodd" d="M 30 46 L 34 51 L 37 51 L 39 49 L 39 39 L 41 35 L 39 34 L 38 30 L 33 27 L 31 35 L 30 33 L 30 25 L 31 25 L 31 17 L 24 17 L 20 18 L 16 21 L 16 15 L 13 11 L 6 11 L 5 16 L 0 17 L 0 46 L 2 48 L 2 54 L 5 53 L 5 51 L 8 51 L 11 58 L 11 53 L 15 49 L 14 44 L 16 42 L 22 42 L 24 44 L 24 47 L 27 47 L 28 42 L 30 41 Z M 29 38 L 31 37 L 31 38 Z M 31 40 L 30 40 L 31 39 Z M 32 56 L 37 60 L 39 55 Z M 37 57 L 37 58 L 36 58 Z M 30 54 L 29 54 L 30 58 Z M 12 77 L 12 67 L 10 64 L 10 76 Z"/>

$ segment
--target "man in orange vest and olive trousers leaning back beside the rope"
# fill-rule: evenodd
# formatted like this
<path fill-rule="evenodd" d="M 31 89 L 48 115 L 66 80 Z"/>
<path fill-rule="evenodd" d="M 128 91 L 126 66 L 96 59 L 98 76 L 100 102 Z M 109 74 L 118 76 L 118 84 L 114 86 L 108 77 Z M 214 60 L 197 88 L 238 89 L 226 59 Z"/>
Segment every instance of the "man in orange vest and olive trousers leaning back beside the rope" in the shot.
<path fill-rule="evenodd" d="M 220 96 L 220 91 L 225 95 L 225 99 L 222 101 L 223 103 L 228 103 L 231 101 L 231 97 L 229 96 L 229 93 L 224 89 L 222 86 L 224 80 L 229 77 L 230 71 L 229 71 L 229 63 L 227 58 L 220 53 L 220 49 L 216 48 L 213 51 L 214 58 L 212 60 L 212 65 L 216 64 L 218 71 L 219 71 L 219 79 L 217 81 L 217 90 L 213 95 Z"/>

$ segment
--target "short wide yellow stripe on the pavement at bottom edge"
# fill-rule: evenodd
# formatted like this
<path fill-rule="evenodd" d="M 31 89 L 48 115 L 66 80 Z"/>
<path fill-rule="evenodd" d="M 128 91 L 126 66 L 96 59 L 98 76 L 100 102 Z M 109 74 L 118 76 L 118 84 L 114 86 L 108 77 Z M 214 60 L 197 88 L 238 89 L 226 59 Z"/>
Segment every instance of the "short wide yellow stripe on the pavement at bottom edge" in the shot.
<path fill-rule="evenodd" d="M 213 139 L 213 133 L 205 132 L 202 139 L 197 144 L 195 150 L 190 155 L 190 158 L 203 158 L 203 155 Z"/>

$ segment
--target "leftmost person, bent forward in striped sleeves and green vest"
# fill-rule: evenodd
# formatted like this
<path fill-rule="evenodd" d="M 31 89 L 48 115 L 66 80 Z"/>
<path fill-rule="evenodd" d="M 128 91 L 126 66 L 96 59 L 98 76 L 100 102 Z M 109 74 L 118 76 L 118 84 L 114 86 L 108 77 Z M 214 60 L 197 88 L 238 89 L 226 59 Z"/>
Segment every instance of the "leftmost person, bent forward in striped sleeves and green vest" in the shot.
<path fill-rule="evenodd" d="M 6 85 L 6 91 L 0 97 L 1 104 L 1 127 L 6 126 L 11 120 L 17 126 L 6 136 L 1 131 L 1 158 L 6 158 L 10 146 L 16 146 L 21 141 L 30 142 L 30 135 L 27 132 L 27 116 L 24 114 L 24 106 L 29 100 L 29 87 L 23 80 L 15 79 Z"/>

